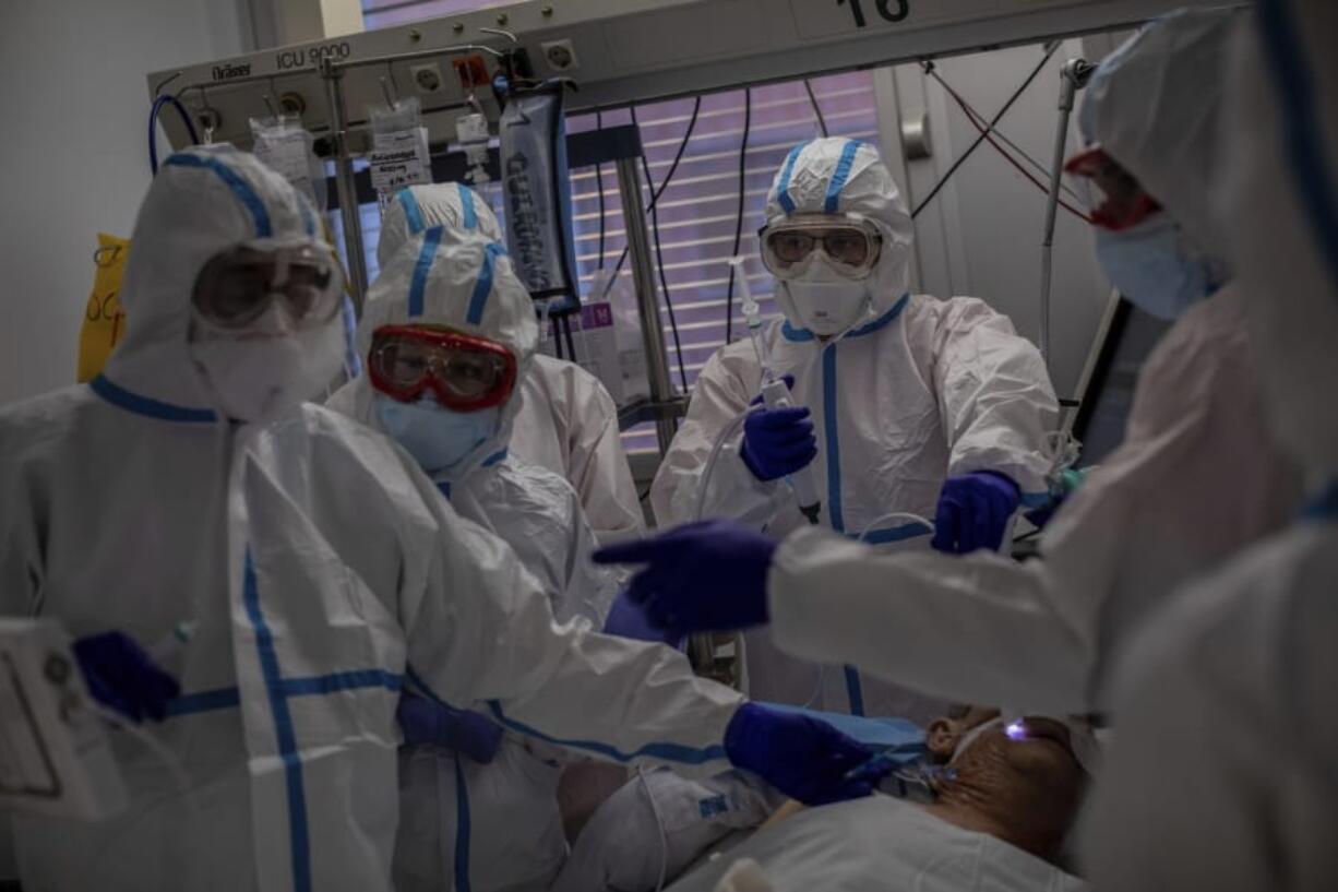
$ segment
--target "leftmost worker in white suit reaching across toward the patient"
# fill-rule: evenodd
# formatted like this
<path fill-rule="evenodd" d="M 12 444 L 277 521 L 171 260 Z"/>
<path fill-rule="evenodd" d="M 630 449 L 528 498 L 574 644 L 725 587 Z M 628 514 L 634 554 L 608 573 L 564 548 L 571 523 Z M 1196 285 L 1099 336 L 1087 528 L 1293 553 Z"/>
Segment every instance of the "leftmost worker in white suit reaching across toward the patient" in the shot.
<path fill-rule="evenodd" d="M 405 674 L 602 758 L 859 793 L 846 738 L 740 706 L 669 648 L 557 627 L 411 457 L 301 403 L 344 351 L 317 232 L 252 155 L 171 155 L 103 375 L 0 411 L 0 615 L 68 627 L 95 696 L 166 715 L 151 733 L 187 784 L 114 734 L 128 810 L 15 817 L 24 888 L 389 889 Z"/>

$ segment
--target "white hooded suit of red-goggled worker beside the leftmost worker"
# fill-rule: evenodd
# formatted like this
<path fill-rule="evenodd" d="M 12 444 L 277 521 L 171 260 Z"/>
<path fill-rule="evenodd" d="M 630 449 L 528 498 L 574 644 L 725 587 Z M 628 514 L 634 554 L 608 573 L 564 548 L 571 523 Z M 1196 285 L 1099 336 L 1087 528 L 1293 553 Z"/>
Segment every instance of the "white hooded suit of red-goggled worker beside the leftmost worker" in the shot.
<path fill-rule="evenodd" d="M 412 236 L 383 268 L 368 293 L 360 351 L 367 355 L 383 325 L 444 325 L 506 347 L 522 380 L 538 331 L 530 295 L 500 245 L 444 229 Z M 363 375 L 329 404 L 380 430 L 375 398 Z M 558 621 L 599 629 L 618 593 L 617 577 L 589 561 L 594 534 L 570 484 L 507 454 L 520 403 L 512 392 L 495 434 L 435 482 L 462 517 L 511 544 L 549 592 Z M 440 747 L 405 750 L 397 888 L 439 889 L 450 877 L 467 876 L 475 892 L 546 889 L 567 854 L 557 800 L 563 755 L 522 739 L 506 741 L 487 765 Z"/>

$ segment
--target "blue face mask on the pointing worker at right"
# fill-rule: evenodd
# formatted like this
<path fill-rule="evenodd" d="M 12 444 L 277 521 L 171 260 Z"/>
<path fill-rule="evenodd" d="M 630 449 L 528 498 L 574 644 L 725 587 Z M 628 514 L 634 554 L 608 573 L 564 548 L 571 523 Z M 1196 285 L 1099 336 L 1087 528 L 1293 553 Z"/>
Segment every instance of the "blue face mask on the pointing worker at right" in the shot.
<path fill-rule="evenodd" d="M 1167 213 L 1121 232 L 1097 229 L 1096 254 L 1111 284 L 1157 319 L 1179 319 L 1220 285 L 1212 264 Z"/>

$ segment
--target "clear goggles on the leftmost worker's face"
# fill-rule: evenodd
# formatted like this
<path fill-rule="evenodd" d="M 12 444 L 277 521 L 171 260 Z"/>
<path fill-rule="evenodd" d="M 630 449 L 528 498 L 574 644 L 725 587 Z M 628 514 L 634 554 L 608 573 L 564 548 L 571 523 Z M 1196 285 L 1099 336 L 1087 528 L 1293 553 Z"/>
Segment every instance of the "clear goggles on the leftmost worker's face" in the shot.
<path fill-rule="evenodd" d="M 333 319 L 343 293 L 344 275 L 329 245 L 257 238 L 210 257 L 190 300 L 195 316 L 213 328 L 244 331 L 278 308 L 276 324 L 297 329 Z"/>

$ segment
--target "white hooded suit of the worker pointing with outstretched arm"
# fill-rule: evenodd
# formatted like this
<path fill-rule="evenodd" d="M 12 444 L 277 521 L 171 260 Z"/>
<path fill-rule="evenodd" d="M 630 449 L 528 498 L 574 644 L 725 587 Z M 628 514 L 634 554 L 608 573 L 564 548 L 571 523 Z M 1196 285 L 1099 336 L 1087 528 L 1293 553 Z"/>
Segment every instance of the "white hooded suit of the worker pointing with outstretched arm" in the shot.
<path fill-rule="evenodd" d="M 1216 130 L 1202 121 L 1220 111 L 1236 16 L 1157 20 L 1107 63 L 1085 113 L 1112 157 L 1161 183 L 1155 197 L 1168 213 L 1187 209 L 1187 226 L 1216 154 Z M 1192 98 L 1196 126 L 1180 126 L 1163 88 Z M 1165 335 L 1140 374 L 1124 443 L 1045 529 L 1042 560 L 879 557 L 797 533 L 769 580 L 776 640 L 953 699 L 1056 714 L 1108 707 L 1109 664 L 1148 612 L 1279 529 L 1299 498 L 1295 465 L 1267 435 L 1244 328 L 1247 307 L 1263 300 L 1228 285 Z"/>

